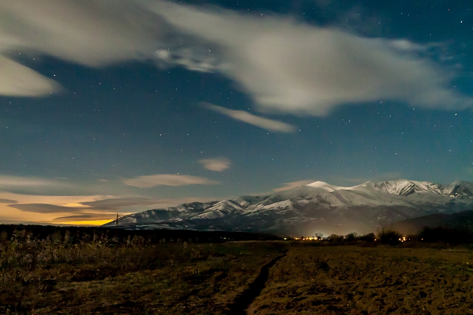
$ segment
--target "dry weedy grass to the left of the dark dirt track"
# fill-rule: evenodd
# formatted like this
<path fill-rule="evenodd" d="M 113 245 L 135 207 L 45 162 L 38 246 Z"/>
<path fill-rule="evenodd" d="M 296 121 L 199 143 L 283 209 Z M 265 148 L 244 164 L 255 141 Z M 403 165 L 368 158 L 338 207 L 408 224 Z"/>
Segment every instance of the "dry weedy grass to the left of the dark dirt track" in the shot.
<path fill-rule="evenodd" d="M 0 237 L 0 314 L 223 314 L 281 251 L 272 242 L 69 240 Z"/>

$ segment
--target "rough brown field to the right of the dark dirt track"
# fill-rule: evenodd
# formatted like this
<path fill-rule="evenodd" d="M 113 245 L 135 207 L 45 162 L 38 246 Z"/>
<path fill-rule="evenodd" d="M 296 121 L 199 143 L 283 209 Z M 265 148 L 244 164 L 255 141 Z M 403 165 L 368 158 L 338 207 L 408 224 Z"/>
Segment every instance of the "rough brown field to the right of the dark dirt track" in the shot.
<path fill-rule="evenodd" d="M 472 314 L 473 251 L 292 244 L 248 314 Z"/>

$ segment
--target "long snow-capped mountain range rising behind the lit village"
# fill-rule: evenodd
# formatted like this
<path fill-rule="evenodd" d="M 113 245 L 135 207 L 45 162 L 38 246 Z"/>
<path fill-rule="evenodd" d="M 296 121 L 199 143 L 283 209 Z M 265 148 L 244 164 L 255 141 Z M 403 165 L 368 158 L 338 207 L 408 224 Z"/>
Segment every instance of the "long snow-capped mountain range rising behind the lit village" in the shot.
<path fill-rule="evenodd" d="M 408 180 L 338 187 L 314 182 L 264 196 L 153 209 L 118 220 L 127 228 L 186 228 L 289 235 L 375 232 L 380 226 L 473 209 L 473 183 Z M 115 226 L 116 221 L 105 224 Z"/>

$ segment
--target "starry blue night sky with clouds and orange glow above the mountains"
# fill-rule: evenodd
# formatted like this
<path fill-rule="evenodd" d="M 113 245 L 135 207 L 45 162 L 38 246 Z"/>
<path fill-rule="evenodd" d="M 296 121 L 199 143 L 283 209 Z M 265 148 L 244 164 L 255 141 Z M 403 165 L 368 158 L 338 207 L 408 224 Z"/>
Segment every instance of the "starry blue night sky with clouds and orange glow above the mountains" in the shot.
<path fill-rule="evenodd" d="M 0 222 L 473 181 L 471 1 L 0 2 Z"/>

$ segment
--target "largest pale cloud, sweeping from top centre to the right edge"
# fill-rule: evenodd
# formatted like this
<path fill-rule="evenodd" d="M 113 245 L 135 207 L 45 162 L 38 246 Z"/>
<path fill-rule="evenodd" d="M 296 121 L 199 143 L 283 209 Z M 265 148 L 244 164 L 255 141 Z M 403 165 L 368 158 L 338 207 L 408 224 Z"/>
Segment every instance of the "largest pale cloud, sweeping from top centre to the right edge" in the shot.
<path fill-rule="evenodd" d="M 368 38 L 281 16 L 156 1 L 150 6 L 181 32 L 222 48 L 215 67 L 236 80 L 262 111 L 326 115 L 335 106 L 395 99 L 412 105 L 464 108 L 471 97 L 448 88 L 449 77 L 406 48 L 408 40 Z"/>

